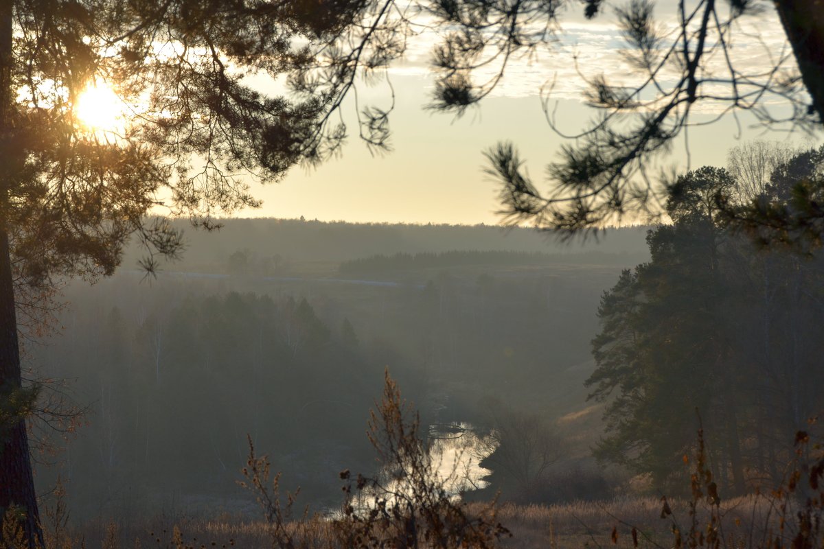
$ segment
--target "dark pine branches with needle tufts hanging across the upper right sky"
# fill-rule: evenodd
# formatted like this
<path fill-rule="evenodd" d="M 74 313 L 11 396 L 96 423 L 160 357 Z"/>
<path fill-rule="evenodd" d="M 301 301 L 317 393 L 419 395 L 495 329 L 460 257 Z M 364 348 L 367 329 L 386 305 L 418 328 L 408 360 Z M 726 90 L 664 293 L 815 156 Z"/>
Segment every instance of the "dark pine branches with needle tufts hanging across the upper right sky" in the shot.
<path fill-rule="evenodd" d="M 482 100 L 513 58 L 563 35 L 560 20 L 567 7 L 567 2 L 539 0 L 434 2 L 433 12 L 449 21 L 452 32 L 436 50 L 440 77 L 433 106 L 461 114 Z M 790 48 L 773 51 L 762 44 L 769 62 L 754 67 L 746 63 L 751 54 L 735 48 L 755 40 L 742 23 L 773 7 Z M 605 8 L 601 0 L 583 2 L 590 19 L 603 17 Z M 657 8 L 665 15 L 654 16 Z M 614 15 L 632 80 L 616 84 L 611 76 L 618 75 L 588 75 L 584 98 L 597 114 L 580 131 L 564 133 L 574 140 L 546 166 L 548 191 L 529 177 L 512 143 L 487 152 L 489 174 L 503 185 L 502 213 L 508 221 L 574 233 L 616 224 L 626 214 L 661 215 L 672 181 L 654 172 L 653 161 L 689 128 L 724 114 L 747 111 L 767 127 L 821 128 L 824 15 L 815 2 L 631 0 L 615 7 Z M 490 66 L 494 76 L 484 79 Z M 545 91 L 547 119 L 561 133 L 550 112 L 552 86 Z M 696 117 L 702 107 L 712 108 L 709 120 Z M 763 206 L 747 206 L 748 218 L 763 217 Z"/>

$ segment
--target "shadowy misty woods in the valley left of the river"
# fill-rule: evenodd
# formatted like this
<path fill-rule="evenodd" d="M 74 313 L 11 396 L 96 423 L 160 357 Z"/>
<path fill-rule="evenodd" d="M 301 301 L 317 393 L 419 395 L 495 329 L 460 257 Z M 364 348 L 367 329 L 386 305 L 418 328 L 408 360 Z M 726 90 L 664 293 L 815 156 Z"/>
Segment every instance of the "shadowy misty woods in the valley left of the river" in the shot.
<path fill-rule="evenodd" d="M 116 291 L 96 300 L 73 289 L 65 336 L 33 350 L 33 360 L 76 380 L 44 388 L 49 402 L 53 391 L 90 402 L 90 425 L 60 469 L 73 516 L 113 505 L 145 512 L 172 491 L 192 505 L 238 497 L 247 434 L 286 486 L 302 487 L 302 501 L 335 501 L 339 488 L 326 478 L 344 467 L 371 472 L 364 415 L 387 364 L 408 376 L 391 355 L 361 345 L 348 319 L 331 324 L 291 295 L 188 293 L 190 281 L 107 286 Z"/>

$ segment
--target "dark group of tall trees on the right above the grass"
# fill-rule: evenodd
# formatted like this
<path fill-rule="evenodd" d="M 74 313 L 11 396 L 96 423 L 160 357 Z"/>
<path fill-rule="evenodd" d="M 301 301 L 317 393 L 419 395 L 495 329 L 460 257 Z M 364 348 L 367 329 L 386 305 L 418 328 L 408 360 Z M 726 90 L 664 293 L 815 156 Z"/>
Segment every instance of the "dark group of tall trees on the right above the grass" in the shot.
<path fill-rule="evenodd" d="M 781 198 L 784 174 L 811 155 L 773 171 L 777 204 L 792 199 Z M 719 168 L 679 177 L 667 202 L 674 223 L 648 234 L 651 261 L 623 272 L 598 309 L 587 381 L 589 398 L 605 402 L 597 457 L 650 475 L 659 489 L 684 486 L 673 481 L 698 421 L 719 486 L 741 493 L 746 482 L 780 480 L 785 439 L 809 429 L 822 406 L 811 390 L 821 382 L 824 309 L 812 296 L 822 290 L 822 254 L 759 248 L 725 227 L 717 197 L 735 187 Z"/>

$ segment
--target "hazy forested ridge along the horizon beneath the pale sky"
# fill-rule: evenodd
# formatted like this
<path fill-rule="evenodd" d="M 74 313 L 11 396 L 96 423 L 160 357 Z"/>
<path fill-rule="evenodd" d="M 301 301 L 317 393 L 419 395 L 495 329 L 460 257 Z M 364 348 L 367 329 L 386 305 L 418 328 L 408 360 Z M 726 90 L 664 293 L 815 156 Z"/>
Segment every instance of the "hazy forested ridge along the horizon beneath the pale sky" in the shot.
<path fill-rule="evenodd" d="M 644 254 L 627 262 L 632 265 L 648 258 L 648 227 L 606 229 L 597 239 L 563 243 L 540 231 L 514 227 L 452 225 L 358 224 L 343 221 L 300 221 L 294 219 L 227 219 L 219 231 L 193 230 L 185 220 L 173 221 L 185 231 L 187 247 L 174 268 L 201 271 L 219 266 L 237 250 L 248 249 L 259 258 L 282 258 L 284 264 L 300 262 L 341 262 L 374 254 L 419 254 L 452 249 L 486 249 L 536 252 L 539 254 Z M 137 244 L 124 255 L 124 268 L 134 268 L 144 250 Z"/>

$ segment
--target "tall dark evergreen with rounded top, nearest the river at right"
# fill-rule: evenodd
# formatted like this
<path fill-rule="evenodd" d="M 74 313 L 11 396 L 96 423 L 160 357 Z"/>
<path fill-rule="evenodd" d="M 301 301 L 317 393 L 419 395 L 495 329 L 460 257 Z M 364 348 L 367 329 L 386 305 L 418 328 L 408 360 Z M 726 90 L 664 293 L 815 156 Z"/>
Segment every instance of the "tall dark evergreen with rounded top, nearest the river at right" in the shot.
<path fill-rule="evenodd" d="M 589 398 L 608 404 L 596 454 L 652 473 L 658 486 L 694 439 L 697 410 L 708 423 L 726 420 L 708 432 L 728 441 L 724 459 L 743 490 L 715 205 L 733 183 L 708 167 L 678 178 L 667 202 L 673 225 L 649 232 L 651 261 L 623 272 L 598 309 L 597 369 L 587 384 L 595 388 Z"/>

